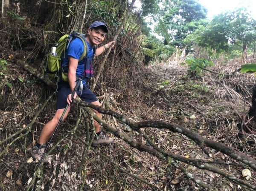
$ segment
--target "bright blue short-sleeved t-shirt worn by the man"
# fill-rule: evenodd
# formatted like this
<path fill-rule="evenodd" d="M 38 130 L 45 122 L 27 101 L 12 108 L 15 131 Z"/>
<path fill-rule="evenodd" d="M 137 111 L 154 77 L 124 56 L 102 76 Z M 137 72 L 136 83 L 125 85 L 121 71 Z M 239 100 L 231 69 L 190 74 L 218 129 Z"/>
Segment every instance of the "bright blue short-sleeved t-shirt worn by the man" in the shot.
<path fill-rule="evenodd" d="M 87 43 L 87 46 L 88 46 L 87 58 L 89 58 L 90 60 L 93 60 L 93 47 L 90 46 L 90 44 L 87 42 L 87 40 L 85 40 L 85 42 Z M 79 58 L 81 57 L 83 52 L 84 52 L 84 43 L 81 41 L 81 39 L 75 38 L 74 40 L 72 40 L 70 42 L 68 50 L 65 52 L 65 57 L 64 57 L 64 60 L 62 62 L 62 66 L 67 65 L 67 68 L 64 68 L 64 69 L 65 70 L 68 69 L 68 63 L 69 63 L 68 57 L 69 56 L 79 60 Z M 78 62 L 78 66 L 77 66 L 77 69 L 76 69 L 76 76 L 83 76 L 84 75 L 85 61 L 86 61 L 86 59 L 83 59 L 83 60 Z"/>

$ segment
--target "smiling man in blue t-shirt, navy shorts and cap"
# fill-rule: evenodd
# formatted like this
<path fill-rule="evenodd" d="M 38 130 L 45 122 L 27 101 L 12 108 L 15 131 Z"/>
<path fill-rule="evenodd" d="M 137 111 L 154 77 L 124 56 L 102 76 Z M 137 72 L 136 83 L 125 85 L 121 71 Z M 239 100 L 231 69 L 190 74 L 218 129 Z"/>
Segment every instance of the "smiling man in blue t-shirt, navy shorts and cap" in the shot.
<path fill-rule="evenodd" d="M 96 95 L 90 91 L 88 85 L 86 83 L 87 80 L 90 80 L 93 77 L 93 67 L 92 67 L 92 60 L 94 56 L 99 56 L 104 52 L 107 48 L 113 47 L 115 45 L 115 41 L 107 43 L 99 48 L 96 51 L 93 51 L 93 46 L 99 45 L 103 42 L 108 33 L 108 27 L 99 21 L 95 21 L 93 24 L 90 25 L 88 31 L 88 36 L 85 37 L 85 42 L 88 46 L 88 54 L 87 57 L 81 61 L 79 58 L 81 57 L 82 53 L 84 52 L 84 44 L 81 39 L 75 38 L 70 42 L 69 48 L 66 51 L 63 64 L 62 66 L 66 66 L 67 64 L 67 73 L 68 73 L 68 82 L 59 81 L 58 82 L 58 96 L 57 96 L 57 107 L 56 112 L 52 120 L 50 120 L 41 131 L 38 143 L 33 147 L 32 150 L 32 157 L 35 159 L 41 160 L 41 157 L 44 153 L 46 142 L 52 136 L 55 127 L 58 124 L 58 121 L 63 114 L 64 108 L 67 104 L 69 107 L 67 108 L 66 113 L 64 114 L 63 120 L 68 115 L 70 111 L 70 104 L 72 103 L 71 94 L 74 91 L 76 86 L 76 78 L 82 77 L 83 81 L 83 88 L 82 91 L 77 91 L 74 94 L 74 99 L 76 99 L 77 93 L 81 100 L 86 102 L 93 103 L 94 105 L 100 105 L 99 100 L 96 98 Z M 95 53 L 95 55 L 94 55 Z M 85 65 L 85 66 L 84 66 Z M 78 82 L 80 83 L 80 82 Z M 81 87 L 80 87 L 81 88 Z M 93 110 L 99 117 L 102 117 L 98 111 Z M 96 146 L 99 144 L 110 144 L 113 142 L 112 138 L 105 137 L 102 132 L 100 131 L 99 123 L 94 122 L 95 125 L 95 138 L 93 140 L 92 145 Z M 49 160 L 46 159 L 45 161 Z"/>

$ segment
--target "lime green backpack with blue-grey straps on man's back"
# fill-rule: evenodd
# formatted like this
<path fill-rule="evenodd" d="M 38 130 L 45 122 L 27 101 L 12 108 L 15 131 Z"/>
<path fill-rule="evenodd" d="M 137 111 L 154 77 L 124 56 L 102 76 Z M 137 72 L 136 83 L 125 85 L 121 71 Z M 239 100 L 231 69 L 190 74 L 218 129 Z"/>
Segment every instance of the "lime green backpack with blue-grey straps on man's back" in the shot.
<path fill-rule="evenodd" d="M 56 47 L 52 47 L 54 49 L 56 48 L 55 52 L 52 53 L 52 51 L 50 51 L 49 54 L 47 54 L 47 62 L 46 62 L 46 66 L 44 69 L 44 74 L 47 75 L 47 77 L 49 77 L 50 80 L 52 80 L 52 81 L 58 81 L 58 80 L 68 81 L 68 74 L 67 74 L 67 71 L 66 72 L 63 71 L 62 68 L 64 68 L 65 66 L 62 66 L 61 60 L 64 59 L 65 52 L 67 51 L 71 40 L 75 39 L 76 37 L 80 38 L 84 44 L 84 52 L 81 55 L 81 57 L 79 58 L 79 61 L 83 60 L 84 57 L 87 56 L 88 46 L 86 46 L 86 42 L 84 40 L 84 34 L 79 34 L 78 32 L 73 32 L 70 34 L 63 35 L 58 40 Z"/>

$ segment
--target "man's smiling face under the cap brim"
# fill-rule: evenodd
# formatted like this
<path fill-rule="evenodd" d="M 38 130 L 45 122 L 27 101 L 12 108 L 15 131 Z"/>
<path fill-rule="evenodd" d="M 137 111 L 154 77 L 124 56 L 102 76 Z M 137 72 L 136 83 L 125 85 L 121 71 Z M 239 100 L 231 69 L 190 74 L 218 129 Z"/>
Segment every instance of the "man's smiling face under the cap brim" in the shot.
<path fill-rule="evenodd" d="M 88 29 L 88 40 L 91 45 L 99 45 L 105 39 L 106 33 L 101 28 Z"/>

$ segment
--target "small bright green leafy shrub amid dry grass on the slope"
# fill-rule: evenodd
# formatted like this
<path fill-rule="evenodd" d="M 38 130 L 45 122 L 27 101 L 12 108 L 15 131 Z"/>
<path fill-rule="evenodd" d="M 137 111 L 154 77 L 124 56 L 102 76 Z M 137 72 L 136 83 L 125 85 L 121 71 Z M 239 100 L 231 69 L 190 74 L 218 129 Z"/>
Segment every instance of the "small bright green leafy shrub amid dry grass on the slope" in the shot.
<path fill-rule="evenodd" d="M 200 71 L 201 69 L 198 68 L 198 66 L 203 68 L 206 68 L 207 66 L 214 66 L 214 64 L 211 61 L 208 61 L 205 58 L 188 58 L 186 59 L 186 63 L 189 65 L 189 74 L 195 71 Z M 185 63 L 181 63 L 181 65 L 185 65 Z"/>

